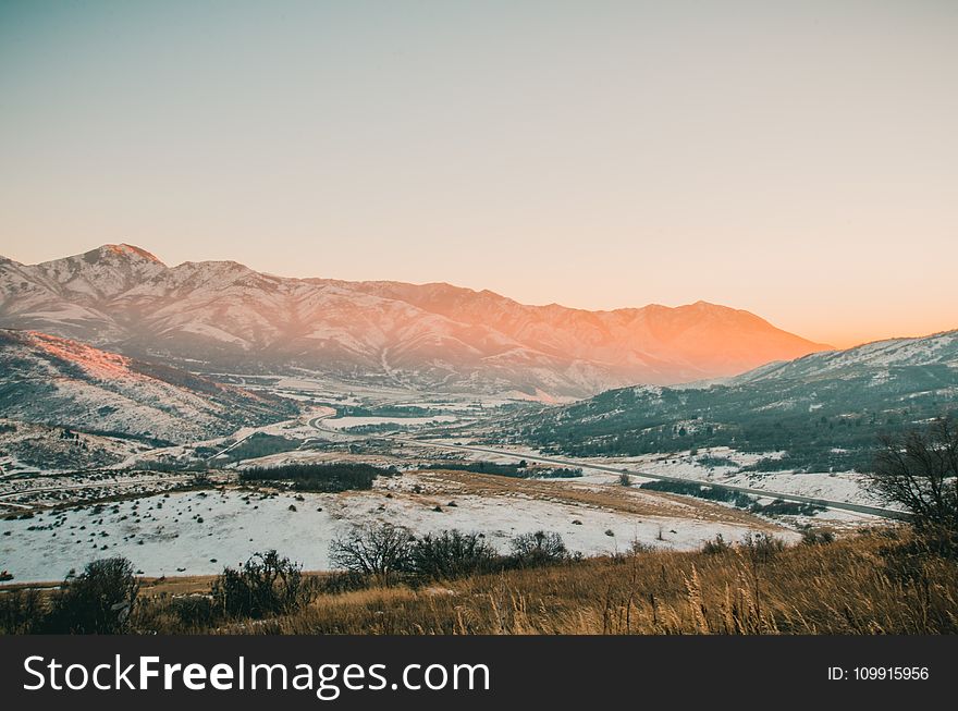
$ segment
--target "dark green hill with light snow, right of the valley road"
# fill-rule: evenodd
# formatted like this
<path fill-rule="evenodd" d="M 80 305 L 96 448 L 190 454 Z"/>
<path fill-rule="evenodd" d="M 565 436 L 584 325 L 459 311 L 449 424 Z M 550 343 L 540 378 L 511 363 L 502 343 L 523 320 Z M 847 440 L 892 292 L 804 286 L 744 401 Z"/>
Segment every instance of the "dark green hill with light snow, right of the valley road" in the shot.
<path fill-rule="evenodd" d="M 769 469 L 868 466 L 881 432 L 958 415 L 958 331 L 763 366 L 721 383 L 623 388 L 520 415 L 517 441 L 572 454 L 728 445 L 785 451 Z"/>

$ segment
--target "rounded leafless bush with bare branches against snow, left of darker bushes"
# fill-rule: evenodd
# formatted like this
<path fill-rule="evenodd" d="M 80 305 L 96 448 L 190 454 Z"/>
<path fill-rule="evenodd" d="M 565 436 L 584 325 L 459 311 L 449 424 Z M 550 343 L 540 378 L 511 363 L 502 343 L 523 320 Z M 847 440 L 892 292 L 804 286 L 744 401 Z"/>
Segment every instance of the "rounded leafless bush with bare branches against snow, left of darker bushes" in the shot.
<path fill-rule="evenodd" d="M 353 526 L 330 543 L 330 561 L 355 573 L 374 575 L 389 585 L 409 560 L 413 536 L 392 524 Z"/>

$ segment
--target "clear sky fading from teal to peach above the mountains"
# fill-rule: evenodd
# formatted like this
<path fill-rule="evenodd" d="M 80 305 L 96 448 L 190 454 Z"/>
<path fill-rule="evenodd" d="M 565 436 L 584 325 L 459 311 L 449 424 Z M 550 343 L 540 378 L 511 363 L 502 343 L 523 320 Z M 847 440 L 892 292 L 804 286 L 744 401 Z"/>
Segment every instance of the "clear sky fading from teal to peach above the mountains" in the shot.
<path fill-rule="evenodd" d="M 958 328 L 958 3 L 0 0 L 0 254 Z"/>

